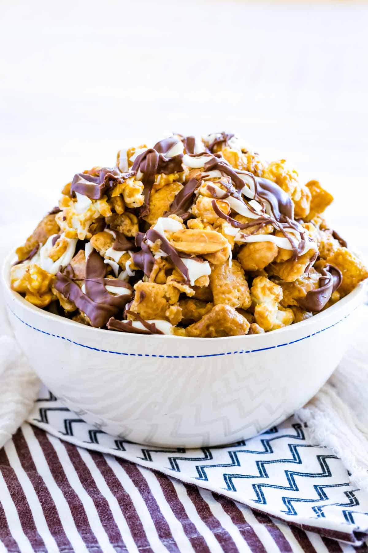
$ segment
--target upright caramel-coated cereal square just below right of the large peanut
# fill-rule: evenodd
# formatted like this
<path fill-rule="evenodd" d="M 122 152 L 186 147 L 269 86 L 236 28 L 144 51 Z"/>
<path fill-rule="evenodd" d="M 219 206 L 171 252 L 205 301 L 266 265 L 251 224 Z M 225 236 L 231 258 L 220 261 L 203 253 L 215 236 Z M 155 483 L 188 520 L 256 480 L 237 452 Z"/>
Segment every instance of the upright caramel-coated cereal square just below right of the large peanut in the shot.
<path fill-rule="evenodd" d="M 215 305 L 226 304 L 248 309 L 252 303 L 244 271 L 235 260 L 231 267 L 228 263 L 215 265 L 210 275 L 210 284 Z"/>

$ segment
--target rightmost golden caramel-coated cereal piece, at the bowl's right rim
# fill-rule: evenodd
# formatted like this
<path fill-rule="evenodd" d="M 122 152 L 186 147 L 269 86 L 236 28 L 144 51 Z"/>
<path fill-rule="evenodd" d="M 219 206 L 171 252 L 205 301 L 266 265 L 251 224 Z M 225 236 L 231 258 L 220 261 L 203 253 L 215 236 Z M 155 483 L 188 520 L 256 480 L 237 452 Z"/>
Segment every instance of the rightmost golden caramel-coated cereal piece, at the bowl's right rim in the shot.
<path fill-rule="evenodd" d="M 338 290 L 340 293 L 349 294 L 362 280 L 368 278 L 368 270 L 364 263 L 347 248 L 337 248 L 327 258 L 327 263 L 340 269 L 343 274 L 343 282 Z"/>

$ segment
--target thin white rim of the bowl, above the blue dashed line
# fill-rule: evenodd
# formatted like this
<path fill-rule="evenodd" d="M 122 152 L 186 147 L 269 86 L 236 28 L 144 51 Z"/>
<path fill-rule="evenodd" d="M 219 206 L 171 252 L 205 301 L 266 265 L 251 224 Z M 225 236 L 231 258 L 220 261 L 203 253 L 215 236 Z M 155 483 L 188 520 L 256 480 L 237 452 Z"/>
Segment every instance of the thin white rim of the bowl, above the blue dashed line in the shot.
<path fill-rule="evenodd" d="M 37 307 L 33 304 L 31 304 L 29 301 L 26 301 L 18 292 L 15 292 L 10 288 L 10 267 L 12 266 L 12 262 L 15 261 L 15 249 L 12 249 L 8 255 L 3 259 L 2 263 L 2 271 L 1 271 L 1 280 L 4 288 L 7 289 L 8 293 L 10 293 L 15 301 L 18 302 L 18 304 L 22 305 L 26 311 L 32 312 L 33 314 L 39 315 L 41 318 L 43 317 L 46 321 L 57 321 L 58 323 L 65 325 L 66 327 L 71 328 L 79 328 L 83 327 L 84 330 L 88 329 L 89 332 L 96 333 L 103 333 L 103 335 L 106 335 L 106 332 L 109 333 L 109 336 L 113 335 L 125 335 L 129 336 L 132 339 L 138 338 L 147 338 L 147 336 L 138 335 L 138 334 L 130 334 L 130 333 L 122 333 L 116 330 L 106 330 L 105 328 L 95 328 L 90 327 L 87 325 L 81 325 L 81 323 L 72 321 L 71 319 L 67 319 L 66 317 L 62 317 L 61 315 L 55 315 L 53 313 L 50 313 L 49 311 L 44 311 L 41 309 L 41 307 Z M 259 341 L 264 340 L 265 337 L 270 336 L 280 336 L 282 333 L 286 332 L 297 332 L 298 329 L 301 328 L 308 328 L 313 325 L 315 325 L 318 322 L 322 322 L 322 320 L 327 319 L 331 315 L 337 313 L 338 311 L 342 310 L 343 307 L 348 305 L 350 302 L 353 303 L 354 300 L 356 300 L 360 295 L 362 296 L 362 293 L 365 288 L 366 281 L 362 281 L 361 283 L 354 288 L 349 294 L 344 296 L 341 300 L 337 301 L 334 305 L 328 307 L 328 309 L 322 311 L 321 313 L 317 313 L 317 315 L 313 315 L 310 317 L 310 319 L 306 319 L 305 321 L 297 322 L 293 325 L 285 326 L 284 328 L 278 328 L 277 330 L 273 330 L 271 332 L 266 332 L 264 334 L 252 334 L 250 336 L 248 335 L 240 335 L 240 336 L 223 336 L 223 337 L 217 337 L 217 338 L 211 338 L 210 343 L 213 343 L 214 341 L 224 341 L 224 340 L 240 340 L 244 339 L 245 337 L 247 340 L 253 340 L 253 341 Z M 359 304 L 358 304 L 359 305 Z M 190 340 L 193 341 L 193 337 L 190 336 L 172 336 L 172 335 L 150 335 L 150 338 L 153 338 L 154 340 L 167 340 L 167 339 L 175 339 L 180 338 L 180 340 Z M 208 338 L 196 338 L 196 341 L 199 340 L 205 340 L 206 343 L 209 342 Z"/>

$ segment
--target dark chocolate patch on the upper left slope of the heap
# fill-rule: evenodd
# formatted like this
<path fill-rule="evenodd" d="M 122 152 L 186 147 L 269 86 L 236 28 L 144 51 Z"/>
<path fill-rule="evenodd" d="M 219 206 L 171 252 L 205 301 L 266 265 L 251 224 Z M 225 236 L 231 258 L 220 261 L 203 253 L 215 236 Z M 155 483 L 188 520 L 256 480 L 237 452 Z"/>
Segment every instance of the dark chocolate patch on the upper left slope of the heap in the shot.
<path fill-rule="evenodd" d="M 70 193 L 72 195 L 73 192 L 78 192 L 78 194 L 89 197 L 90 200 L 100 200 L 106 192 L 135 174 L 133 170 L 128 173 L 120 173 L 116 167 L 114 169 L 104 167 L 99 170 L 97 176 L 77 173 L 72 180 Z"/>

